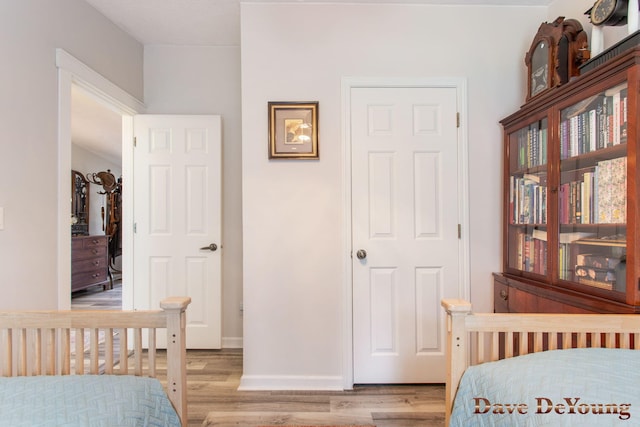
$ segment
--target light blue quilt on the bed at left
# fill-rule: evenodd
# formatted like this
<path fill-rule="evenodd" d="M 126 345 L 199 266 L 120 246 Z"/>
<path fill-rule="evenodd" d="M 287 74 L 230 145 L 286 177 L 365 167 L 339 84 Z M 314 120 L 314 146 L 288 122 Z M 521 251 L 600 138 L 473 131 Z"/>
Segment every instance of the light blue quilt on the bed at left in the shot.
<path fill-rule="evenodd" d="M 128 375 L 0 378 L 0 426 L 180 426 L 160 382 Z"/>

